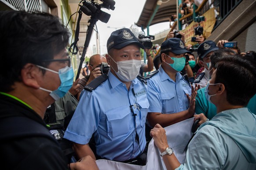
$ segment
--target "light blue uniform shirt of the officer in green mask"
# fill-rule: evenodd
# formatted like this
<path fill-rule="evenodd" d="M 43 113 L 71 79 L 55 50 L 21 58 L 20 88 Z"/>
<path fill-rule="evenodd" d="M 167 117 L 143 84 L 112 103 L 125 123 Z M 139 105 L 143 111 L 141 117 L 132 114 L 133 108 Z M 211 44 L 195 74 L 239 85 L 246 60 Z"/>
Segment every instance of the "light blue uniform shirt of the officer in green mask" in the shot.
<path fill-rule="evenodd" d="M 147 80 L 147 84 L 150 103 L 148 112 L 169 114 L 189 108 L 186 93 L 191 95 L 191 87 L 179 72 L 176 73 L 175 82 L 160 66 L 159 72 Z"/>

